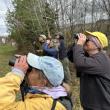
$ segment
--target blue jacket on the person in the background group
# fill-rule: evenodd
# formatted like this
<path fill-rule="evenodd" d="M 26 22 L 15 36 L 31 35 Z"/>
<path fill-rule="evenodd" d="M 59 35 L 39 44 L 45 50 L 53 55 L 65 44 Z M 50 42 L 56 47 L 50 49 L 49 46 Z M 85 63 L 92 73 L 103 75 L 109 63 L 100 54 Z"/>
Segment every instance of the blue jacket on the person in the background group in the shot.
<path fill-rule="evenodd" d="M 58 51 L 57 51 L 56 48 L 54 48 L 54 47 L 49 48 L 47 43 L 44 43 L 42 45 L 42 48 L 43 48 L 43 51 L 44 51 L 45 55 L 51 56 L 51 57 L 54 57 L 54 58 L 58 58 Z"/>

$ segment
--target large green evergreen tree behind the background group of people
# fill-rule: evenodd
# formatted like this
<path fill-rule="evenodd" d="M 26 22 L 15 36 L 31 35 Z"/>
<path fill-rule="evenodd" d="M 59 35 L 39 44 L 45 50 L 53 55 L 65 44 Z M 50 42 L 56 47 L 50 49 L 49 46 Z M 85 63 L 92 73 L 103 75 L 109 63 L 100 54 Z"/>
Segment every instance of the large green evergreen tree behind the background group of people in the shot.
<path fill-rule="evenodd" d="M 10 37 L 20 51 L 35 52 L 39 48 L 39 34 L 55 32 L 55 11 L 42 0 L 14 0 L 13 6 L 14 11 L 9 11 L 7 16 Z"/>

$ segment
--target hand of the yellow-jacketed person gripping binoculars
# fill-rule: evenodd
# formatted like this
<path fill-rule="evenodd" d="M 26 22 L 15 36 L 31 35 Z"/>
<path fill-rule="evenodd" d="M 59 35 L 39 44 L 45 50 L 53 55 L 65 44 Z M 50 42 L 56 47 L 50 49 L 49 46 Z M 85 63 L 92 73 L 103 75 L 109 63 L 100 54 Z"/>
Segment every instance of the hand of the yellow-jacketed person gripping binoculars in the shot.
<path fill-rule="evenodd" d="M 14 67 L 26 73 L 29 68 L 26 56 L 20 56 L 20 58 L 16 59 Z"/>

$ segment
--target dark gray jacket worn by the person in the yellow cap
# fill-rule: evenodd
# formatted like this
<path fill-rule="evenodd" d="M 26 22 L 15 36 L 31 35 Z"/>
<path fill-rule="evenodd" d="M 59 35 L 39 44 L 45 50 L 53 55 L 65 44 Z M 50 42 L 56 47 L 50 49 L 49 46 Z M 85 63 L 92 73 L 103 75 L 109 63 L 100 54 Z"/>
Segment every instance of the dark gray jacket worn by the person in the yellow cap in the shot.
<path fill-rule="evenodd" d="M 73 62 L 80 74 L 82 106 L 92 110 L 110 110 L 110 58 L 102 51 L 87 57 L 83 47 L 75 45 Z"/>

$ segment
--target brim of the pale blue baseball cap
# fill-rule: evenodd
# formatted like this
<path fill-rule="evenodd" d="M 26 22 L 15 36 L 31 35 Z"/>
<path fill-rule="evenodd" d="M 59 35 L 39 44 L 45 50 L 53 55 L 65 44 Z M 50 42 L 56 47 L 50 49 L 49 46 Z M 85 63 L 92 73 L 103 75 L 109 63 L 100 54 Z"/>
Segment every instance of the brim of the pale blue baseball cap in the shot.
<path fill-rule="evenodd" d="M 40 64 L 39 64 L 39 58 L 40 57 L 37 56 L 37 55 L 34 55 L 32 53 L 28 53 L 28 55 L 27 55 L 27 63 L 30 66 L 32 66 L 32 67 L 34 67 L 36 69 L 41 70 L 41 67 L 40 67 Z"/>

